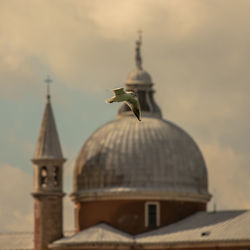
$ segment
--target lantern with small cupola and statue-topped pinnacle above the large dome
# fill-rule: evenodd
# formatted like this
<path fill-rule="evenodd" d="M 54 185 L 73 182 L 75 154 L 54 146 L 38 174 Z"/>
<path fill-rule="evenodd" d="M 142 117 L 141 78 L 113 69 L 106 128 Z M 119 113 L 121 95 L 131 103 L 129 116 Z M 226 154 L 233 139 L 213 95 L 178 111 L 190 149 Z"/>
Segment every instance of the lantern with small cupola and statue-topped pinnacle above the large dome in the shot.
<path fill-rule="evenodd" d="M 143 116 L 161 118 L 161 110 L 154 100 L 153 82 L 150 74 L 142 67 L 141 45 L 142 37 L 139 31 L 139 38 L 135 43 L 135 69 L 128 75 L 126 84 L 127 91 L 134 91 L 140 102 Z M 118 118 L 132 115 L 130 108 L 123 104 L 118 111 Z"/>

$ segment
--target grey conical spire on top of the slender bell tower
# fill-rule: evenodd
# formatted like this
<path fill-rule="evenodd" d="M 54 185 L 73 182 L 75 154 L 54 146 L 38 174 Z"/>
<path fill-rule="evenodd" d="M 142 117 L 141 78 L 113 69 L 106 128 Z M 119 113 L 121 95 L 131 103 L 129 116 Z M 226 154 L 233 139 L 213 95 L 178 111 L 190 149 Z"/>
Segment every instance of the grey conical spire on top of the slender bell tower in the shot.
<path fill-rule="evenodd" d="M 48 81 L 46 82 L 49 84 Z M 48 158 L 63 159 L 56 123 L 50 103 L 49 92 L 47 93 L 47 103 L 45 106 L 36 151 L 34 154 L 34 159 Z"/>

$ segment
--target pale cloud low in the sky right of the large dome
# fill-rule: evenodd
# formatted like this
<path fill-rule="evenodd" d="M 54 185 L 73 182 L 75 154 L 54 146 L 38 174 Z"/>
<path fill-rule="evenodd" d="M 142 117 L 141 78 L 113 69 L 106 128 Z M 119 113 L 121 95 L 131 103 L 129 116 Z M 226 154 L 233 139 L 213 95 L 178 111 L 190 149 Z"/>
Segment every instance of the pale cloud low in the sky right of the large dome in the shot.
<path fill-rule="evenodd" d="M 250 209 L 250 156 L 218 144 L 201 147 L 207 162 L 209 189 L 219 210 Z M 214 200 L 209 204 L 212 208 Z"/>

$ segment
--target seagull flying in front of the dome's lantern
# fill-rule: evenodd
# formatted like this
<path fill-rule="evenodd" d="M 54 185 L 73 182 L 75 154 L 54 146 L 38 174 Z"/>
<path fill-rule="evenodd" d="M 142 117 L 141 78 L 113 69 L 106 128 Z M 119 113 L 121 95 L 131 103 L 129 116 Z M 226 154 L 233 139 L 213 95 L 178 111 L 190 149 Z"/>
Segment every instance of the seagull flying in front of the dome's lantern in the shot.
<path fill-rule="evenodd" d="M 141 107 L 139 101 L 136 98 L 136 94 L 132 91 L 124 91 L 124 88 L 112 89 L 112 92 L 115 94 L 115 96 L 106 100 L 106 103 L 125 102 L 134 112 L 137 119 L 141 121 Z"/>

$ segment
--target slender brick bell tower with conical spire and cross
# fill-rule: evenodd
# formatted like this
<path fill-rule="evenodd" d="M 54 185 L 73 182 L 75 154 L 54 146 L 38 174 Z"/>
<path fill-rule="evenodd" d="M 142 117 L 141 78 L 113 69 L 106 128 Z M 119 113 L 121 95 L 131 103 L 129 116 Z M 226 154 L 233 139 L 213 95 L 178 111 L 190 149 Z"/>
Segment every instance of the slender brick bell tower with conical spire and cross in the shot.
<path fill-rule="evenodd" d="M 48 77 L 47 103 L 32 162 L 34 164 L 34 249 L 63 236 L 63 163 L 60 141 L 52 111 Z"/>

